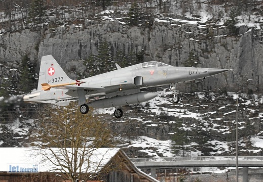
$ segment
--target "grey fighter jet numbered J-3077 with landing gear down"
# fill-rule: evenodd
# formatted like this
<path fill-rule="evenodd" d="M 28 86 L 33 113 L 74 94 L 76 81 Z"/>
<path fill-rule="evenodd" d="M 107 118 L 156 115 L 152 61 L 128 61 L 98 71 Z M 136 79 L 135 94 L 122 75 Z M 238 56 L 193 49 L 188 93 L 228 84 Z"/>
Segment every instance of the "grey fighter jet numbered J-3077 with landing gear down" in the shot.
<path fill-rule="evenodd" d="M 175 67 L 151 61 L 121 68 L 81 80 L 70 79 L 52 55 L 41 59 L 37 90 L 24 96 L 26 103 L 51 103 L 65 106 L 79 102 L 80 112 L 94 108 L 115 107 L 114 116 L 121 118 L 121 106 L 154 99 L 157 94 L 141 92 L 142 88 L 170 85 L 173 102 L 179 102 L 176 83 L 205 79 L 229 69 Z M 87 102 L 88 100 L 88 102 Z"/>

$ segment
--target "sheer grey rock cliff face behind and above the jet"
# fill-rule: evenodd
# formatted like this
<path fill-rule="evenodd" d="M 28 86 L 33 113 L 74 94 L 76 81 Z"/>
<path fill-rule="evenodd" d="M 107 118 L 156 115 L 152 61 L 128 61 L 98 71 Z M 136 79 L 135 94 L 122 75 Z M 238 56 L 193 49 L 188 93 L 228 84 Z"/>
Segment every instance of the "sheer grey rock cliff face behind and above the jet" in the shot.
<path fill-rule="evenodd" d="M 262 30 L 242 26 L 238 35 L 232 35 L 226 26 L 201 25 L 197 20 L 157 17 L 147 26 L 129 26 L 117 19 L 85 20 L 78 25 L 5 33 L 0 39 L 0 61 L 15 68 L 25 54 L 39 62 L 42 56 L 52 54 L 74 78 L 76 72 L 87 71 L 82 60 L 97 54 L 104 40 L 114 53 L 142 53 L 144 61 L 233 69 L 206 79 L 195 90 L 183 84 L 179 88 L 182 92 L 224 88 L 257 93 L 263 89 Z"/>

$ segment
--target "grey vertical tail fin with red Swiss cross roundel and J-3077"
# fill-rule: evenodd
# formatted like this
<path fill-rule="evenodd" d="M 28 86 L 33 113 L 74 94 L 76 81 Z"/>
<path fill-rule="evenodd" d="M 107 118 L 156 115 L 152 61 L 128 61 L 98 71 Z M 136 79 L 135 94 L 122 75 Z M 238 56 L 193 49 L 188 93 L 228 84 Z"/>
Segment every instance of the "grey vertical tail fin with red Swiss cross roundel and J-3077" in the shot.
<path fill-rule="evenodd" d="M 74 81 L 70 79 L 59 66 L 52 55 L 43 56 L 41 59 L 39 84 L 37 90 L 42 89 L 42 84 L 60 84 Z"/>

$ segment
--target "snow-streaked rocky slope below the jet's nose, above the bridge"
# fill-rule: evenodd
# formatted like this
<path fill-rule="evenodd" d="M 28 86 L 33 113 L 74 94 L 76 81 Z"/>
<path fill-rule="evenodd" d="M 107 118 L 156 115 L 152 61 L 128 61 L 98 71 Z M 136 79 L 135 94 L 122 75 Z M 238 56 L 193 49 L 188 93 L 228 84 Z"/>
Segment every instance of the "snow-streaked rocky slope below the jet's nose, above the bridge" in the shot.
<path fill-rule="evenodd" d="M 241 148 L 243 147 L 243 152 L 249 151 L 251 155 L 259 154 L 262 151 L 262 132 L 255 131 L 252 136 L 244 134 L 246 129 L 249 129 L 248 120 L 252 126 L 260 124 L 260 121 L 263 120 L 262 95 L 237 95 L 231 92 L 227 96 L 220 96 L 214 93 L 209 93 L 209 96 L 207 96 L 207 93 L 195 94 L 194 98 L 196 100 L 193 100 L 193 98 L 188 100 L 187 95 L 185 95 L 177 105 L 174 105 L 169 97 L 172 93 L 164 89 L 158 92 L 158 96 L 155 99 L 135 105 L 132 108 L 133 114 L 126 109 L 123 118 L 114 120 L 114 123 L 136 122 L 141 124 L 138 127 L 158 128 L 164 123 L 172 125 L 178 119 L 189 120 L 189 123 L 186 122 L 181 126 L 185 131 L 189 131 L 189 133 L 197 126 L 201 126 L 201 130 L 205 132 L 217 133 L 218 136 L 216 137 L 209 136 L 211 139 L 206 143 L 212 149 L 210 155 L 231 155 L 231 153 L 234 155 L 234 152 L 231 152 L 231 150 L 233 150 L 232 145 L 235 142 L 235 138 L 232 141 L 220 141 L 218 139 L 220 135 L 222 135 L 221 139 L 226 139 L 225 135 L 233 133 L 236 123 L 236 99 L 239 98 L 239 112 L 246 114 L 239 121 L 239 132 L 241 133 L 239 145 Z M 219 100 L 224 99 L 226 100 L 226 105 L 218 104 Z M 138 108 L 141 108 L 143 111 L 140 115 L 135 113 L 139 110 Z M 98 115 L 105 113 L 112 115 L 113 111 L 114 109 L 95 109 L 94 112 Z M 162 120 L 163 116 L 171 116 L 171 118 Z M 139 130 L 140 128 L 135 129 Z M 167 134 L 172 136 L 174 133 L 174 131 L 171 131 Z M 170 138 L 169 136 L 167 138 Z M 245 149 L 246 145 L 244 143 L 248 141 L 244 141 L 244 138 L 247 138 L 253 149 Z M 193 142 L 191 145 L 195 148 L 197 144 Z M 138 152 L 144 153 L 145 157 L 172 157 L 175 155 L 171 151 L 171 139 L 164 141 L 157 140 L 156 138 L 153 139 L 146 135 L 137 135 L 132 140 L 125 139 L 125 145 L 123 146 L 126 149 L 131 147 L 137 148 Z M 198 156 L 203 154 L 196 150 L 187 155 Z"/>

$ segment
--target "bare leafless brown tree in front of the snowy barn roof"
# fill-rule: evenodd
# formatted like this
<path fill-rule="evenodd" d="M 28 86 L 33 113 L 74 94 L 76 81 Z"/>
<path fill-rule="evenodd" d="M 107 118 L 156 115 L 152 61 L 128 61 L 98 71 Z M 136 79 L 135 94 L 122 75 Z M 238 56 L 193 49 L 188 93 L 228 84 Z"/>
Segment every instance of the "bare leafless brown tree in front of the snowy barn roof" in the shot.
<path fill-rule="evenodd" d="M 81 114 L 74 104 L 67 107 L 49 105 L 40 114 L 39 130 L 32 138 L 37 150 L 35 154 L 43 156 L 43 163 L 54 166 L 49 171 L 64 173 L 67 180 L 91 179 L 102 167 L 102 160 L 107 158 L 107 151 L 100 153 L 100 160 L 92 158 L 94 153 L 98 148 L 111 150 L 108 147 L 114 146 L 107 124 L 93 116 L 92 111 Z"/>

